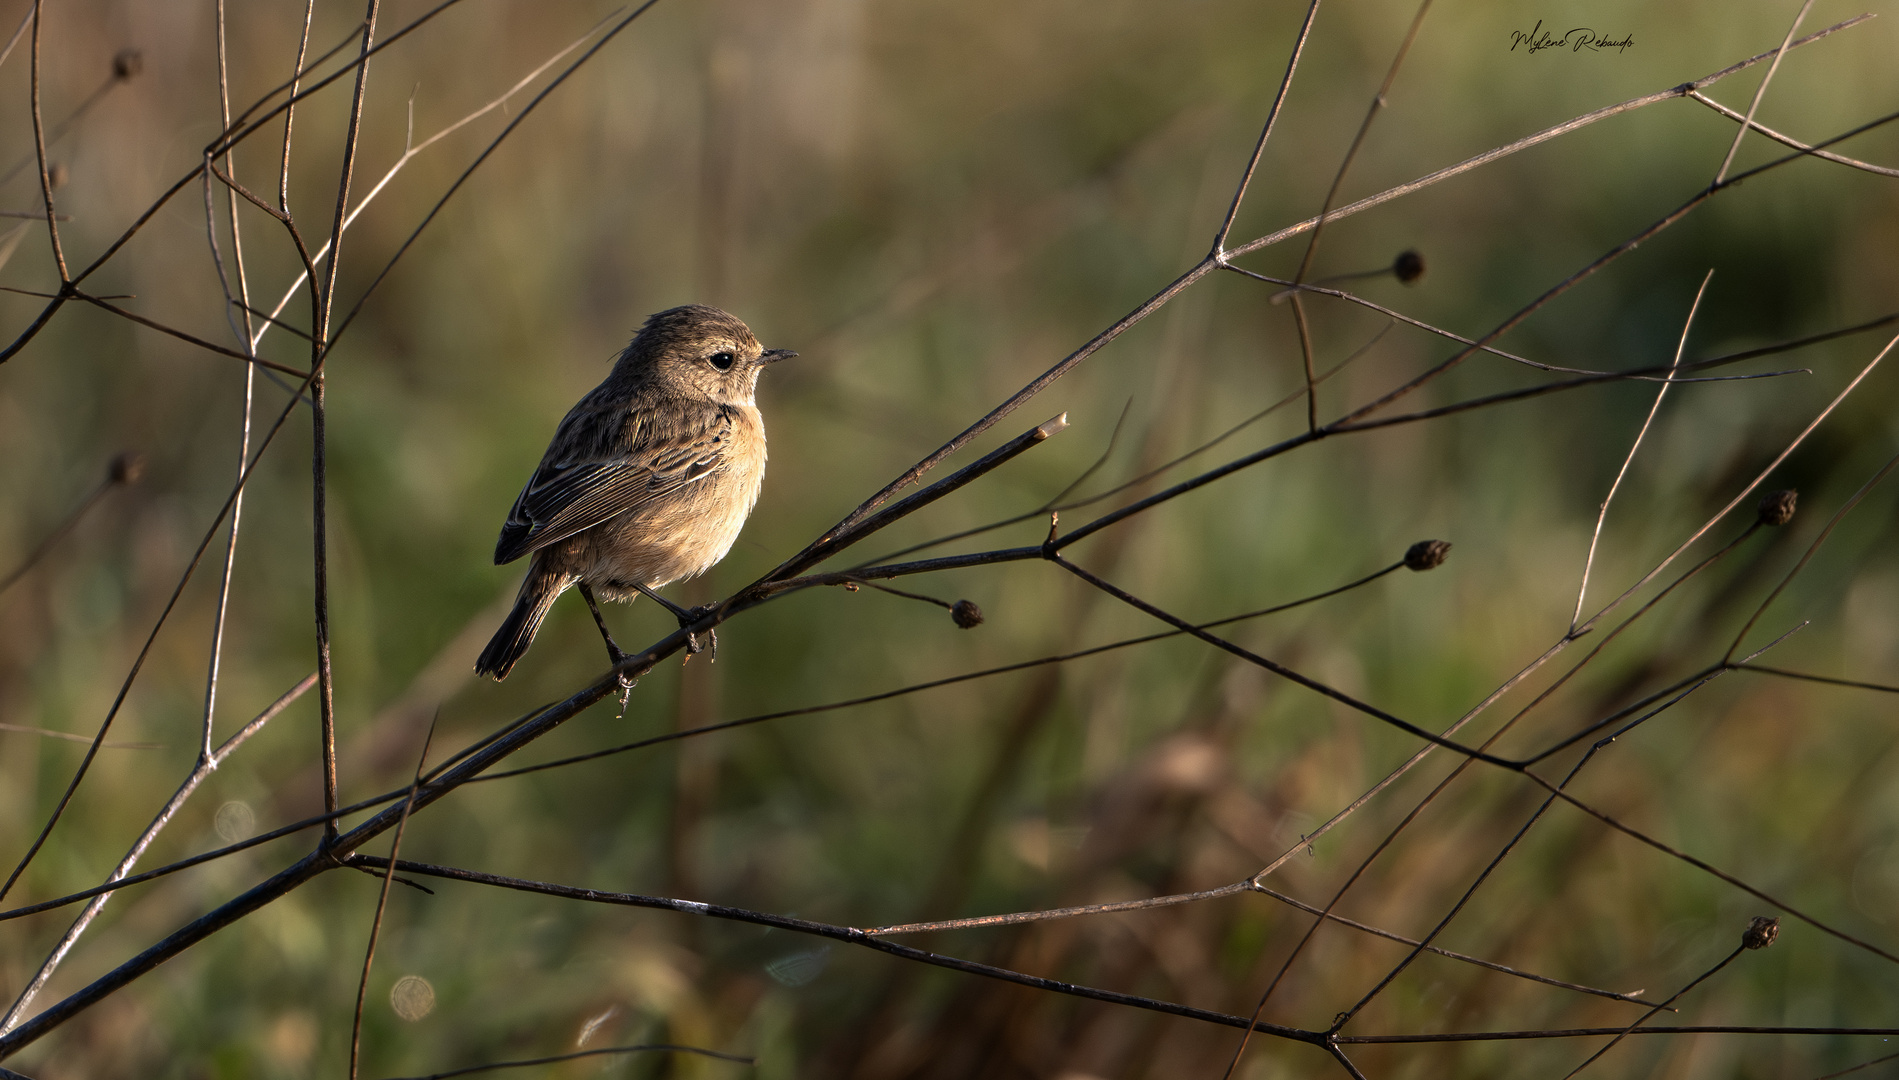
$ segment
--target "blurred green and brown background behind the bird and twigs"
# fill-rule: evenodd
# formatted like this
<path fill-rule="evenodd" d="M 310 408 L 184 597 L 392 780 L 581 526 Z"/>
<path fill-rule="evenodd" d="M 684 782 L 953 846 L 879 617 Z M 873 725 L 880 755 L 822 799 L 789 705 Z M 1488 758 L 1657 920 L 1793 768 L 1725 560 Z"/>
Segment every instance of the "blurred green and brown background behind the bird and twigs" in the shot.
<path fill-rule="evenodd" d="M 15 4 L 17 8 L 17 4 Z M 380 36 L 427 8 L 384 4 Z M 1762 123 L 1817 140 L 1893 108 L 1899 23 L 1878 19 L 1791 53 Z M 467 0 L 372 61 L 355 194 L 420 142 L 490 102 L 615 9 Z M 1244 241 L 1314 213 L 1413 17 L 1407 4 L 1320 9 L 1278 131 L 1238 214 Z M 1861 13 L 1819 0 L 1814 30 Z M 553 93 L 475 173 L 380 285 L 329 361 L 330 600 L 344 799 L 406 780 L 431 716 L 460 748 L 604 670 L 577 600 L 562 600 L 507 683 L 469 664 L 520 566 L 492 543 L 553 425 L 661 307 L 716 304 L 796 363 L 760 402 L 771 431 L 763 499 L 731 556 L 670 592 L 725 596 L 870 492 L 1132 309 L 1208 247 L 1284 72 L 1303 8 L 1229 0 L 874 4 L 663 0 Z M 1356 199 L 1580 112 L 1719 70 L 1779 44 L 1793 4 L 1439 4 L 1341 197 Z M 11 9 L 0 23 L 11 27 Z M 237 108 L 287 78 L 302 6 L 230 11 Z M 361 19 L 317 4 L 313 51 Z M 1512 30 L 1588 25 L 1624 51 L 1510 49 Z M 120 84 L 112 57 L 142 70 Z M 0 66 L 0 146 L 28 165 L 0 209 L 38 209 L 28 42 Z M 348 53 L 346 53 L 348 55 Z M 74 266 L 89 264 L 218 131 L 215 8 L 47 6 L 49 146 Z M 334 61 L 321 70 L 332 70 Z M 558 70 L 558 68 L 556 68 Z M 1709 87 L 1745 110 L 1762 66 Z M 348 233 L 340 309 L 427 209 L 545 85 L 416 154 Z M 329 232 L 348 80 L 296 114 L 291 205 Z M 1548 287 L 1686 201 L 1736 125 L 1690 101 L 1654 104 L 1329 226 L 1314 275 L 1424 252 L 1415 285 L 1350 289 L 1479 336 Z M 275 125 L 235 152 L 239 180 L 275 188 Z M 1878 127 L 1836 150 L 1899 165 Z M 1745 169 L 1781 150 L 1751 137 Z M 1796 161 L 1722 192 L 1570 290 L 1500 345 L 1544 363 L 1667 363 L 1703 273 L 1688 359 L 1863 323 L 1899 307 L 1893 178 Z M 222 216 L 222 209 L 220 209 Z M 283 232 L 243 207 L 253 294 L 272 306 L 298 270 Z M 4 233 L 0 283 L 57 289 L 42 224 Z M 228 230 L 222 241 L 230 251 Z M 311 239 L 311 243 L 317 243 Z M 1242 266 L 1289 277 L 1295 239 Z M 234 345 L 192 184 L 89 289 Z M 963 459 L 1067 410 L 1073 427 L 991 478 L 875 537 L 883 554 L 1043 505 L 1113 446 L 1094 493 L 1174 459 L 1301 383 L 1291 309 L 1272 289 L 1212 275 Z M 44 300 L 0 294 L 11 338 Z M 1346 359 L 1386 319 L 1310 300 L 1316 363 Z M 287 323 L 308 328 L 304 296 Z M 1612 507 L 1589 609 L 1675 549 L 1796 435 L 1884 344 L 1842 338 L 1751 361 L 1760 382 L 1667 397 Z M 264 355 L 308 364 L 272 330 Z M 1327 382 L 1320 419 L 1449 357 L 1398 326 Z M 1891 364 L 1895 361 L 1888 361 Z M 1400 408 L 1551 376 L 1466 361 Z M 1500 744 L 1525 754 L 1713 662 L 1842 501 L 1895 450 L 1899 372 L 1874 374 L 1766 488 L 1800 514 L 1751 537 L 1624 634 Z M 1215 619 L 1331 588 L 1409 543 L 1455 543 L 1438 571 L 1232 628 L 1234 640 L 1441 729 L 1563 636 L 1597 507 L 1654 399 L 1591 387 L 1451 419 L 1331 438 L 1069 549 L 1090 569 L 1185 617 Z M 256 385 L 268 423 L 287 393 Z M 82 304 L 0 366 L 0 571 L 40 543 L 122 450 L 148 461 L 25 579 L 0 594 L 0 721 L 89 736 L 224 501 L 243 368 Z M 1124 418 L 1124 419 L 1122 419 Z M 1119 438 L 1111 437 L 1117 431 Z M 1303 429 L 1276 412 L 1196 459 L 1213 465 Z M 1185 478 L 1174 469 L 1117 499 Z M 310 414 L 298 410 L 249 486 L 230 598 L 218 733 L 313 666 Z M 1766 490 L 1764 488 L 1764 490 Z M 1893 683 L 1899 668 L 1899 488 L 1874 490 L 1776 602 L 1751 642 L 1812 623 L 1770 659 Z M 1115 503 L 1101 503 L 1109 509 Z M 1753 499 L 1690 558 L 1749 520 Z M 1092 511 L 1065 514 L 1073 526 Z M 1029 520 L 942 550 L 1035 543 Z M 203 710 L 216 556 L 160 634 L 91 776 L 6 903 L 85 888 L 190 771 Z M 1686 566 L 1686 564 L 1679 564 Z M 625 717 L 598 706 L 530 748 L 547 761 L 646 735 L 894 689 L 1158 630 L 1062 571 L 1014 564 L 910 579 L 987 613 L 881 592 L 813 590 L 722 628 L 718 662 L 665 664 Z M 1654 588 L 1641 594 L 1652 596 Z M 608 613 L 623 643 L 672 628 L 651 604 Z M 1584 640 L 1582 645 L 1589 645 Z M 1574 657 L 1578 645 L 1567 657 Z M 1567 668 L 1485 714 L 1489 735 Z M 1762 662 L 1768 662 L 1766 659 Z M 1728 674 L 1605 750 L 1576 793 L 1829 924 L 1899 941 L 1899 759 L 1893 698 Z M 321 807 L 313 695 L 243 746 L 141 867 Z M 406 858 L 611 890 L 684 896 L 874 926 L 1210 888 L 1255 873 L 1360 795 L 1417 740 L 1193 642 L 1162 642 L 881 704 L 761 723 L 655 750 L 471 786 L 420 814 Z M 6 864 L 25 852 L 84 746 L 0 731 Z M 1557 757 L 1561 774 L 1574 755 Z M 1324 903 L 1453 767 L 1434 755 L 1269 884 Z M 1417 936 L 1457 902 L 1540 801 L 1521 778 L 1470 771 L 1358 881 L 1341 913 Z M 220 809 L 224 810 L 220 818 Z M 38 998 L 53 1004 L 179 924 L 308 850 L 311 835 L 118 896 Z M 385 841 L 372 845 L 385 854 Z M 8 1061 L 36 1078 L 338 1076 L 378 881 L 332 873 L 165 964 Z M 76 909 L 0 926 L 11 1000 Z M 1665 996 L 1734 947 L 1766 907 L 1681 862 L 1551 810 L 1451 922 L 1441 945 L 1616 991 Z M 1014 930 L 906 938 L 959 957 L 1246 1014 L 1308 917 L 1265 896 Z M 1403 947 L 1327 926 L 1265 1017 L 1324 1027 Z M 404 1019 L 399 979 L 433 1010 Z M 1681 1023 L 1891 1023 L 1891 964 L 1785 921 L 1684 998 Z M 418 983 L 404 983 L 414 989 Z M 1631 1023 L 1637 1006 L 1525 983 L 1441 957 L 1400 976 L 1356 1034 Z M 1041 995 L 752 926 L 439 884 L 397 888 L 370 978 L 365 1076 L 632 1042 L 756 1055 L 592 1057 L 545 1076 L 1206 1076 L 1236 1034 Z M 1367 1074 L 1567 1071 L 1601 1040 L 1358 1048 Z M 1886 1050 L 1880 1038 L 1639 1038 L 1597 1072 L 1808 1076 Z M 1312 1048 L 1255 1038 L 1240 1076 L 1339 1074 Z"/>

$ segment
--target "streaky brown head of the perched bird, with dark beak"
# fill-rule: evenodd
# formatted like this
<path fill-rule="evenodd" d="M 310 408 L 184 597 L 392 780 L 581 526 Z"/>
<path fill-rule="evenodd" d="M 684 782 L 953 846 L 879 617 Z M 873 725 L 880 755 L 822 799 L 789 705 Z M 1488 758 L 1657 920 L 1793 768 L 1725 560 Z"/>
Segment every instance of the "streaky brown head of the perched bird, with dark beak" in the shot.
<path fill-rule="evenodd" d="M 680 395 L 752 404 L 758 374 L 796 355 L 765 349 L 744 323 L 718 307 L 687 304 L 648 317 L 619 370 Z"/>

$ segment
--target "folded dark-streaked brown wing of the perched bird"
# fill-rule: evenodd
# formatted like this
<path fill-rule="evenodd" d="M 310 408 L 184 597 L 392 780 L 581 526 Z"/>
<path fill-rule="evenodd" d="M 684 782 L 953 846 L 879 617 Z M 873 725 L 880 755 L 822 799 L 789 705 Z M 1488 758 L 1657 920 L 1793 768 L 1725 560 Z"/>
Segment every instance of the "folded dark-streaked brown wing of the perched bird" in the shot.
<path fill-rule="evenodd" d="M 608 459 L 543 461 L 501 526 L 494 562 L 513 562 L 712 475 L 731 440 L 724 419 Z"/>

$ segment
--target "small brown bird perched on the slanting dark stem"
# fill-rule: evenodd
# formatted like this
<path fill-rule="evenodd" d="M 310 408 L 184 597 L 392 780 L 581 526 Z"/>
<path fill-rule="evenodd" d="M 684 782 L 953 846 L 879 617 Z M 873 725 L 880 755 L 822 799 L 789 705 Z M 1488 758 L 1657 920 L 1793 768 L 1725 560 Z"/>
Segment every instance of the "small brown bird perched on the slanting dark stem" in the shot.
<path fill-rule="evenodd" d="M 534 564 L 475 670 L 505 680 L 547 609 L 575 585 L 613 662 L 625 653 L 600 617 L 596 588 L 608 600 L 644 592 L 682 626 L 691 623 L 695 611 L 653 590 L 705 573 L 739 539 L 765 478 L 758 374 L 796 355 L 767 351 L 718 307 L 649 317 L 606 382 L 560 421 L 501 526 L 496 566 L 530 552 Z"/>

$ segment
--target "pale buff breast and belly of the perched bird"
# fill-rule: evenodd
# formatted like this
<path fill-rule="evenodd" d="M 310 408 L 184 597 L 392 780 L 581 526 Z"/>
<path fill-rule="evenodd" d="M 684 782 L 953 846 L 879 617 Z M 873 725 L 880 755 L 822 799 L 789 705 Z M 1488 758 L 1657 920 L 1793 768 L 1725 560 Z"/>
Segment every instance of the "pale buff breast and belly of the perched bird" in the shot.
<path fill-rule="evenodd" d="M 752 438 L 735 438 L 710 475 L 670 499 L 572 537 L 570 571 L 610 600 L 632 600 L 636 581 L 657 588 L 697 577 L 725 558 L 765 480 L 765 429 L 758 410 L 743 408 L 741 423 L 752 427 Z"/>

